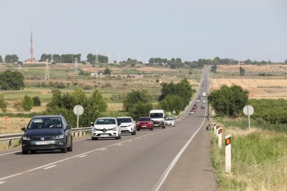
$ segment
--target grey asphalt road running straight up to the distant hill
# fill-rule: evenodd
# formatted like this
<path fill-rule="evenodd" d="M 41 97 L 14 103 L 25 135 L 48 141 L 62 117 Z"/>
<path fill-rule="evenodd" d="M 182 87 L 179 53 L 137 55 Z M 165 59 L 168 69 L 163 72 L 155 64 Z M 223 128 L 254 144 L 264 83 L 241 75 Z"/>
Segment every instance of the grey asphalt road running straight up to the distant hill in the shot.
<path fill-rule="evenodd" d="M 207 79 L 206 74 L 204 78 Z M 200 88 L 201 95 L 207 89 L 205 82 Z M 202 183 L 178 181 L 191 174 L 206 176 L 200 174 L 210 163 L 207 148 L 210 140 L 205 132 L 207 109 L 197 110 L 193 115 L 186 111 L 175 127 L 141 130 L 135 136 L 123 135 L 121 140 L 74 140 L 73 152 L 67 154 L 22 155 L 19 148 L 2 151 L 0 190 L 204 190 Z M 205 148 L 196 149 L 202 141 Z M 189 160 L 182 162 L 189 154 L 198 158 L 193 158 L 195 168 L 189 165 Z M 202 158 L 206 158 L 204 164 L 200 164 Z M 187 167 L 191 172 L 180 170 Z M 211 171 L 206 172 L 216 188 Z"/>

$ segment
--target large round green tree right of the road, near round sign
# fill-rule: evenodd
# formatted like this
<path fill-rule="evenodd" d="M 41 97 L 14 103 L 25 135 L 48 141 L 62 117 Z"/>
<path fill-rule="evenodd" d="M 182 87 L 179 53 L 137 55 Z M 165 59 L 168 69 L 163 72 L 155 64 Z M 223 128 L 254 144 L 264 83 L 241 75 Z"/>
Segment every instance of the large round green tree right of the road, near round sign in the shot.
<path fill-rule="evenodd" d="M 207 99 L 218 116 L 236 117 L 248 102 L 248 91 L 236 84 L 223 85 L 211 91 Z"/>

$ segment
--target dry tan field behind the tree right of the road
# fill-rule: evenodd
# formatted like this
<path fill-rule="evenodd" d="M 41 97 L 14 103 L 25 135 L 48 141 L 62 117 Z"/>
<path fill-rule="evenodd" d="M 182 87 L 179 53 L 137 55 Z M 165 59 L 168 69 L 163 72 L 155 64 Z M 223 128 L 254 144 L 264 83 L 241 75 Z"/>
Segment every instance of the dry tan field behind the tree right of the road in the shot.
<path fill-rule="evenodd" d="M 242 65 L 245 76 L 234 75 L 240 66 L 218 66 L 218 73 L 211 78 L 211 89 L 219 89 L 223 84 L 237 84 L 250 92 L 250 98 L 287 99 L 287 65 L 250 66 Z M 250 75 L 250 71 L 253 71 Z M 256 71 L 256 72 L 255 72 Z M 257 75 L 255 74 L 257 73 Z M 271 73 L 270 76 L 259 76 L 258 73 Z M 229 75 L 228 75 L 229 74 Z"/>

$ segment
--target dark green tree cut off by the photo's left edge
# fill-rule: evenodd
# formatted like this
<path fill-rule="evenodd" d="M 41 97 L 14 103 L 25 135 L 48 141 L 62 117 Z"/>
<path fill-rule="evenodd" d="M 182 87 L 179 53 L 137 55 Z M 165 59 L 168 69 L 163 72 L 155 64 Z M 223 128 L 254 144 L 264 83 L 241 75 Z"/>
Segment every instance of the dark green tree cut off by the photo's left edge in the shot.
<path fill-rule="evenodd" d="M 19 71 L 4 71 L 0 74 L 0 89 L 20 90 L 24 89 L 24 76 Z"/>

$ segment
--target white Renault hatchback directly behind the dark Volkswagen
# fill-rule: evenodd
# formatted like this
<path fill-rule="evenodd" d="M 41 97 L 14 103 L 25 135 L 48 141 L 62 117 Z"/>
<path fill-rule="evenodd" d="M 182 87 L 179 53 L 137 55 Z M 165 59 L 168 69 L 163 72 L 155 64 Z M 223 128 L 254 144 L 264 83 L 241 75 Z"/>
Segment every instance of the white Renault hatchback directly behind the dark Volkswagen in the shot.
<path fill-rule="evenodd" d="M 91 122 L 92 140 L 98 138 L 121 139 L 121 122 L 116 118 L 97 118 L 96 122 Z"/>

